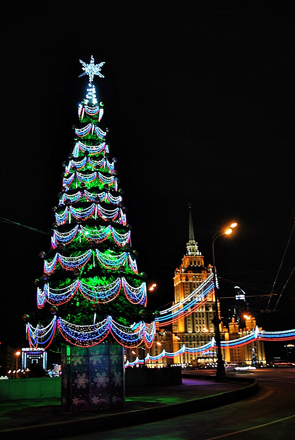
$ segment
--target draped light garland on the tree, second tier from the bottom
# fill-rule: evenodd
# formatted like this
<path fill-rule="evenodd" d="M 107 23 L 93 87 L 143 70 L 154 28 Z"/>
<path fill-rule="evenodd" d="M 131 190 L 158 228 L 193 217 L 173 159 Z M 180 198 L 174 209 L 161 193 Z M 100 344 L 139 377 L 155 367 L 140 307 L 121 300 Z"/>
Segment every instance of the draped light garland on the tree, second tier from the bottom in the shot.
<path fill-rule="evenodd" d="M 77 279 L 67 287 L 52 289 L 49 283 L 44 285 L 43 290 L 37 288 L 37 307 L 43 308 L 45 301 L 52 305 L 61 305 L 71 300 L 78 291 L 89 301 L 100 304 L 107 303 L 115 299 L 123 286 L 123 291 L 131 304 L 141 304 L 146 306 L 146 283 L 142 282 L 139 287 L 131 286 L 124 277 L 117 278 L 115 281 L 105 286 L 92 286 L 82 280 Z"/>

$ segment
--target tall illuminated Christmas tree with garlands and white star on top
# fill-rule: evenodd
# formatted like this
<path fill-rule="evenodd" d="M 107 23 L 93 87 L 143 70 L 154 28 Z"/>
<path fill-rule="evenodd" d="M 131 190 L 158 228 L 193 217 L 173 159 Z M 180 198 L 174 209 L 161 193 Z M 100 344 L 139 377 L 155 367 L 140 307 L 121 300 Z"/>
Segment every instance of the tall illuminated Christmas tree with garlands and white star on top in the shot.
<path fill-rule="evenodd" d="M 32 346 L 46 347 L 58 328 L 80 347 L 101 341 L 150 347 L 154 323 L 143 320 L 148 316 L 146 273 L 138 274 L 117 159 L 111 159 L 109 130 L 102 123 L 104 103 L 98 103 L 93 84 L 94 75 L 104 77 L 104 62 L 95 65 L 92 56 L 90 64 L 80 62 L 89 84 L 78 105 L 73 148 L 63 163 L 59 205 L 52 208 L 51 251 L 39 254 L 44 274 L 35 282 L 38 308 L 48 314 L 50 309 L 53 319 L 45 328 L 28 323 L 28 337 Z"/>

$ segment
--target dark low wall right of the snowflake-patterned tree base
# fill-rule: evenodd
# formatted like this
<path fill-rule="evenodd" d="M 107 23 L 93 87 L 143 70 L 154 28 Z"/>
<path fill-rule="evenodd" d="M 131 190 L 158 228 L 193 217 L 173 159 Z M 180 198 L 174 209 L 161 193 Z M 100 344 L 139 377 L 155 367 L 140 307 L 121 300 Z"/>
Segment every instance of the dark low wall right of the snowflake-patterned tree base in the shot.
<path fill-rule="evenodd" d="M 181 385 L 181 367 L 126 368 L 125 385 Z"/>

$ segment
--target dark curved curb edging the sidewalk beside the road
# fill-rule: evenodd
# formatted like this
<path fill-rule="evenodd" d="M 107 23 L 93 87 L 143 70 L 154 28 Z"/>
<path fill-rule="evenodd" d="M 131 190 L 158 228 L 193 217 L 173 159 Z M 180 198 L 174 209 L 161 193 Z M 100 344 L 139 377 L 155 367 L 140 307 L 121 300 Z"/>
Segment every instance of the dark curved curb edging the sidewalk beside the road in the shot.
<path fill-rule="evenodd" d="M 183 378 L 208 378 L 208 376 L 183 374 Z M 141 425 L 143 423 L 158 422 L 166 418 L 177 417 L 179 415 L 191 414 L 194 412 L 207 411 L 213 408 L 229 405 L 238 400 L 246 399 L 258 392 L 258 382 L 250 378 L 228 378 L 228 381 L 247 382 L 248 385 L 241 389 L 220 392 L 212 396 L 201 397 L 200 399 L 188 400 L 181 403 L 172 403 L 162 407 L 146 408 L 141 410 L 125 411 L 116 414 L 101 414 L 97 417 L 80 418 L 78 420 L 67 420 L 57 423 L 46 423 L 44 425 L 23 426 L 13 429 L 3 429 L 0 431 L 2 438 L 14 440 L 21 435 L 22 440 L 32 438 L 42 438 L 42 440 L 52 438 L 62 438 L 77 436 L 110 429 L 119 429 L 127 426 Z"/>

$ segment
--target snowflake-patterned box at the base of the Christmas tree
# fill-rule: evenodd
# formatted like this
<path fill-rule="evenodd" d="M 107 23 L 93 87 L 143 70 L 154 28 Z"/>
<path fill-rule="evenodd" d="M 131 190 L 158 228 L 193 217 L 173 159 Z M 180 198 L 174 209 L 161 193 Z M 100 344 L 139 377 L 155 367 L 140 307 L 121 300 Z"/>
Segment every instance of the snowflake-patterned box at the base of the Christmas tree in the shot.
<path fill-rule="evenodd" d="M 61 405 L 65 411 L 110 411 L 125 404 L 123 347 L 62 345 Z"/>

